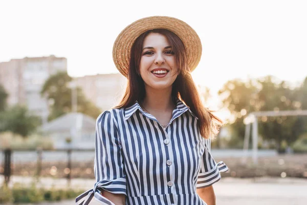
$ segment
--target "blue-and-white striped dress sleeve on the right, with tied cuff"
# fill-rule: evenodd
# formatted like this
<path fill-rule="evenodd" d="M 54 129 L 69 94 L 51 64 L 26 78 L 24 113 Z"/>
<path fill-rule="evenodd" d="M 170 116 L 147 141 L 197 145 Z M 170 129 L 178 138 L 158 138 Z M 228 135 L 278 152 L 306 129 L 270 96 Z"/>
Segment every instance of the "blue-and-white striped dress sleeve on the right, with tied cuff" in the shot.
<path fill-rule="evenodd" d="M 228 171 L 228 167 L 223 161 L 216 163 L 210 154 L 211 140 L 205 139 L 205 150 L 201 160 L 201 170 L 198 175 L 196 189 L 213 185 L 221 179 L 220 172 Z"/>

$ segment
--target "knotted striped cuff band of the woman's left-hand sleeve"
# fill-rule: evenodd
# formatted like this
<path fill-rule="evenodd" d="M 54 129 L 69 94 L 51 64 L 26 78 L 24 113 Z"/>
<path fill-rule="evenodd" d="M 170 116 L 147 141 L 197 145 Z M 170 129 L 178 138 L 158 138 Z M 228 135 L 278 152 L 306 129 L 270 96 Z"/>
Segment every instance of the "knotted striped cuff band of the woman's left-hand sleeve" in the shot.
<path fill-rule="evenodd" d="M 102 180 L 95 183 L 94 189 L 90 189 L 76 198 L 76 205 L 87 205 L 91 202 L 93 197 L 96 198 L 103 205 L 115 205 L 99 193 L 99 189 L 107 190 L 114 194 L 125 193 L 126 179 L 118 178 L 115 180 Z"/>

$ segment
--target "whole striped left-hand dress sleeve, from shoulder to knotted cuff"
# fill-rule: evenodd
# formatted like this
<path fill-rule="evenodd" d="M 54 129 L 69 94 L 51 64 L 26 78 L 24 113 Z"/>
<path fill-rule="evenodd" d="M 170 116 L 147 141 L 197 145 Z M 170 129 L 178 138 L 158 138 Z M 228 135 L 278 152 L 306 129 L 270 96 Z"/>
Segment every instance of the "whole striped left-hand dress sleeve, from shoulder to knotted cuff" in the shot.
<path fill-rule="evenodd" d="M 114 204 L 100 192 L 126 195 L 126 174 L 124 172 L 121 144 L 112 113 L 105 111 L 96 120 L 94 188 L 76 198 L 76 204 L 85 205 L 95 197 L 101 204 Z"/>

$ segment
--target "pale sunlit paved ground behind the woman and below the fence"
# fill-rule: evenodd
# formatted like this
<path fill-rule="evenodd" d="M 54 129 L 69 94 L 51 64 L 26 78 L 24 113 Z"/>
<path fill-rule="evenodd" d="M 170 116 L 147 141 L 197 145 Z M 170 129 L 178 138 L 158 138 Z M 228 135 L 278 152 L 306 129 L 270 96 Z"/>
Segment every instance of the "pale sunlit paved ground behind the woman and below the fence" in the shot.
<path fill-rule="evenodd" d="M 1 181 L 3 178 L 1 178 Z M 31 182 L 31 178 L 12 177 L 12 182 Z M 54 180 L 43 178 L 45 187 L 56 185 L 65 186 L 65 179 Z M 93 179 L 74 179 L 71 185 L 91 189 L 94 184 Z M 237 179 L 224 177 L 215 183 L 214 190 L 218 205 L 305 205 L 307 204 L 307 179 L 298 178 L 256 178 Z M 41 203 L 41 205 L 69 205 L 74 204 L 74 200 L 61 201 L 56 203 Z M 96 203 L 91 203 L 96 204 Z"/>

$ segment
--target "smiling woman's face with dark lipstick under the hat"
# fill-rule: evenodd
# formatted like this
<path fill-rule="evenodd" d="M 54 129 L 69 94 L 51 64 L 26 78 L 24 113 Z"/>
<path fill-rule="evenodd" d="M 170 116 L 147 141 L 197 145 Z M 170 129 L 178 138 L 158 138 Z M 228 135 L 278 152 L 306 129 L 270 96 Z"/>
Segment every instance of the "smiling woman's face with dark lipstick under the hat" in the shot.
<path fill-rule="evenodd" d="M 176 57 L 167 38 L 160 33 L 149 33 L 143 42 L 140 74 L 145 88 L 171 88 L 177 78 Z"/>

